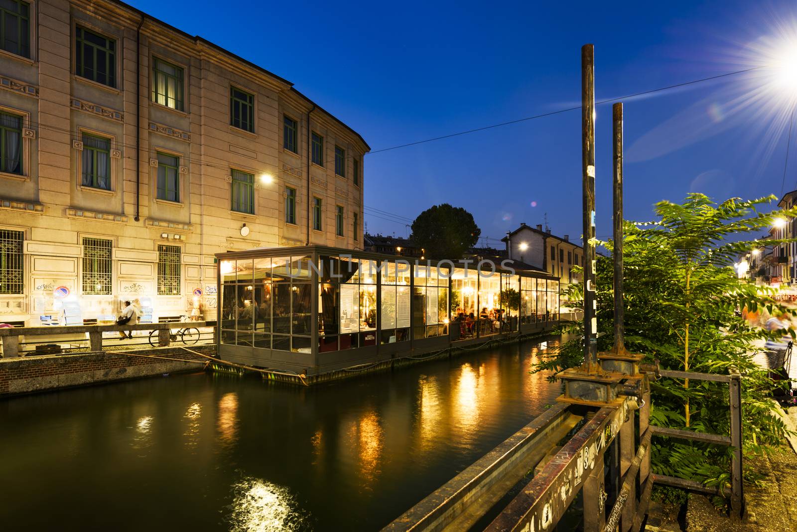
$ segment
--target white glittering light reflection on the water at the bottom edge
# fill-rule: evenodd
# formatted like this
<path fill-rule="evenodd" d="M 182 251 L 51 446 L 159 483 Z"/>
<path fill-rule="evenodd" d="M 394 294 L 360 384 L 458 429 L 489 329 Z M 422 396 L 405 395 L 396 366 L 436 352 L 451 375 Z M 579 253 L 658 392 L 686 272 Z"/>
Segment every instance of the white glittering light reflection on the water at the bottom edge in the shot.
<path fill-rule="evenodd" d="M 227 521 L 234 532 L 297 530 L 308 520 L 288 488 L 253 477 L 233 485 L 231 507 Z"/>

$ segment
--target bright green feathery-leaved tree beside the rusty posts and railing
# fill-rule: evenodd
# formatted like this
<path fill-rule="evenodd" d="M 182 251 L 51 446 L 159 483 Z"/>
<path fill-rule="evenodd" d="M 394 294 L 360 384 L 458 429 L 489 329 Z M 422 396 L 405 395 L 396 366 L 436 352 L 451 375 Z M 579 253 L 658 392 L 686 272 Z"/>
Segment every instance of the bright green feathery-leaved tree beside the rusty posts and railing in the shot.
<path fill-rule="evenodd" d="M 744 375 L 745 452 L 760 452 L 761 445 L 779 442 L 787 430 L 768 401 L 773 383 L 752 359 L 760 340 L 787 331 L 751 327 L 741 311 L 793 311 L 773 299 L 774 291 L 740 280 L 733 269 L 740 254 L 783 242 L 751 240 L 752 233 L 767 230 L 775 217 L 797 216 L 797 209 L 760 213 L 760 205 L 773 199 L 732 198 L 717 204 L 704 194 L 689 194 L 682 204 L 657 203 L 658 221 L 625 224 L 623 275 L 629 350 L 646 354 L 647 362 L 658 358 L 667 370 L 709 374 L 727 374 L 732 366 L 740 370 Z M 606 246 L 612 248 L 611 243 Z M 609 350 L 614 339 L 612 275 L 611 257 L 599 256 L 599 350 Z M 570 297 L 583 301 L 572 287 Z M 571 323 L 564 332 L 574 334 L 573 339 L 536 366 L 536 371 L 562 370 L 583 361 L 583 325 Z M 652 383 L 652 393 L 652 423 L 728 434 L 727 385 L 662 378 Z M 665 475 L 724 485 L 728 453 L 728 448 L 709 444 L 656 438 L 651 456 L 655 470 Z"/>

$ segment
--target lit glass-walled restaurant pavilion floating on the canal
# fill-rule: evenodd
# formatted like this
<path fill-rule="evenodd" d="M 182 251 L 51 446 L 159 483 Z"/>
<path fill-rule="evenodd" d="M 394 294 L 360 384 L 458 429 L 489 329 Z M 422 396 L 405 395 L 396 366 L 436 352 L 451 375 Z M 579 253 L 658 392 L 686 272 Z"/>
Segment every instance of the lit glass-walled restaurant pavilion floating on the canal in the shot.
<path fill-rule="evenodd" d="M 559 320 L 559 281 L 491 261 L 323 246 L 219 253 L 222 359 L 308 375 L 529 334 Z M 481 266 L 481 269 L 479 269 Z"/>

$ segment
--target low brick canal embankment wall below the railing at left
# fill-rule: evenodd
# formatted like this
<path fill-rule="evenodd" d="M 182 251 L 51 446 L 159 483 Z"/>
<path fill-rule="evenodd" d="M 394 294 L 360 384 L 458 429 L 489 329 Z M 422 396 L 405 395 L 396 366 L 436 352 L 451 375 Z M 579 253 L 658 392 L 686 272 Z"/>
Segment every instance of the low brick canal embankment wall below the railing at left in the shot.
<path fill-rule="evenodd" d="M 192 346 L 192 350 L 212 356 L 216 348 L 213 345 Z M 202 369 L 202 364 L 197 362 L 207 361 L 197 354 L 172 347 L 136 350 L 135 354 L 179 360 L 128 356 L 113 352 L 0 358 L 0 397 L 194 371 Z M 194 362 L 180 362 L 182 360 Z"/>

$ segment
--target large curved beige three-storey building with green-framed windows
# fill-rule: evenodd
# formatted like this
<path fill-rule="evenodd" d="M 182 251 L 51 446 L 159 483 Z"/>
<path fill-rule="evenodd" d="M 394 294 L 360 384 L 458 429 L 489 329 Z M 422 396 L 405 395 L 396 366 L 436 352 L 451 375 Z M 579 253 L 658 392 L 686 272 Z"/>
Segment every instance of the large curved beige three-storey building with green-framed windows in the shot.
<path fill-rule="evenodd" d="M 121 2 L 5 4 L 0 322 L 214 319 L 214 253 L 362 246 L 369 147 L 289 81 Z"/>

